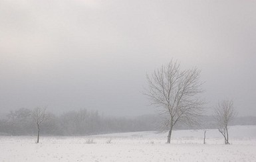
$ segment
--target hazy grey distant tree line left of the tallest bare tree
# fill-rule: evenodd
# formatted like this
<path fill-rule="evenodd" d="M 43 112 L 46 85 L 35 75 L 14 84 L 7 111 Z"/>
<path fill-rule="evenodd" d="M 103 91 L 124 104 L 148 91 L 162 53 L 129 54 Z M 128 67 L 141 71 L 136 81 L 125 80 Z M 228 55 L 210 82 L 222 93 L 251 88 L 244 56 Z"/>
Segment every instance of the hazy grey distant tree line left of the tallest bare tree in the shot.
<path fill-rule="evenodd" d="M 41 124 L 45 136 L 84 136 L 114 132 L 138 132 L 156 130 L 158 117 L 154 115 L 134 118 L 100 115 L 96 110 L 72 110 L 57 116 L 47 112 L 47 120 Z M 19 108 L 0 119 L 0 135 L 25 136 L 37 134 L 33 110 Z"/>

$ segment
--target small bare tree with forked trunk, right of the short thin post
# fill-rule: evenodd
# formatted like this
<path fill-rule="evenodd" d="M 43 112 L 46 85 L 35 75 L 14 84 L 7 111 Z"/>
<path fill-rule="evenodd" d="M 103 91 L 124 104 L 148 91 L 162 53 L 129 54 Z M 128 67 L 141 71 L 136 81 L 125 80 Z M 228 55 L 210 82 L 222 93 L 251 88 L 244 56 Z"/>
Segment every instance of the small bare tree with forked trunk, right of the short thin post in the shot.
<path fill-rule="evenodd" d="M 228 124 L 236 116 L 233 101 L 225 100 L 217 104 L 215 108 L 215 119 L 219 132 L 224 137 L 225 144 L 229 144 Z"/>

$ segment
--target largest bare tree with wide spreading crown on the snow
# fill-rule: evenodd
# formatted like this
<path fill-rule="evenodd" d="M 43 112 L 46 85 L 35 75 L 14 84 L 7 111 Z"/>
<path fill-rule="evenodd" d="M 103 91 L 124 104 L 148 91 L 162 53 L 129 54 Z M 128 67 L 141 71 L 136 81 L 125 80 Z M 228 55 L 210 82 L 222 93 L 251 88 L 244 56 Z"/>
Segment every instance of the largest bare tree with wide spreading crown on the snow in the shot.
<path fill-rule="evenodd" d="M 182 70 L 177 61 L 170 61 L 151 76 L 147 75 L 145 95 L 158 106 L 159 113 L 164 114 L 162 130 L 169 130 L 167 143 L 170 143 L 172 129 L 177 123 L 198 124 L 197 117 L 203 112 L 203 102 L 198 97 L 202 93 L 199 77 L 197 68 Z"/>

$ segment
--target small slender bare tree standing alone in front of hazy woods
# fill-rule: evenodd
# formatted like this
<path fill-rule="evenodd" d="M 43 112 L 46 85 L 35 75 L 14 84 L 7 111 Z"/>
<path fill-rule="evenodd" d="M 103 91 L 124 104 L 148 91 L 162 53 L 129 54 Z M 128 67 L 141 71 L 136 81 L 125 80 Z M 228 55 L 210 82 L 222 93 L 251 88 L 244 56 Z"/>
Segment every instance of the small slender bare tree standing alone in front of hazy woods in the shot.
<path fill-rule="evenodd" d="M 36 107 L 32 112 L 33 121 L 37 124 L 37 142 L 39 143 L 39 135 L 41 124 L 47 120 L 46 108 Z"/>

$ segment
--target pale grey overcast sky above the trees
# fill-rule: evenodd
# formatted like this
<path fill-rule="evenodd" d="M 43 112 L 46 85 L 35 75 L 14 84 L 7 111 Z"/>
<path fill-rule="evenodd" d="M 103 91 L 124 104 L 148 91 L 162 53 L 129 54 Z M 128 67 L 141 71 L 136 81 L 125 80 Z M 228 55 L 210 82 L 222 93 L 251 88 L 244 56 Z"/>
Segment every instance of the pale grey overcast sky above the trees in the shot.
<path fill-rule="evenodd" d="M 146 73 L 201 69 L 207 106 L 256 116 L 256 1 L 0 1 L 0 112 L 154 113 Z"/>

